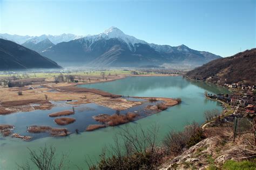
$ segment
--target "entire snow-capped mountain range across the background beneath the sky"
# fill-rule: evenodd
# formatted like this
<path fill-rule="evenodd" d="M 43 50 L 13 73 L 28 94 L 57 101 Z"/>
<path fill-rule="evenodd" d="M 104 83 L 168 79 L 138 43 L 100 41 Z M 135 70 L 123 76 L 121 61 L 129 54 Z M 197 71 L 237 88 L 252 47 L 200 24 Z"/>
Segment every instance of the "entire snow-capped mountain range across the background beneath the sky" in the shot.
<path fill-rule="evenodd" d="M 8 34 L 9 35 L 9 34 Z M 145 65 L 203 65 L 208 61 L 221 58 L 209 52 L 197 51 L 185 45 L 149 44 L 133 36 L 126 35 L 117 27 L 110 27 L 94 36 L 27 37 L 21 40 L 6 34 L 5 39 L 21 43 L 58 63 L 96 67 L 140 67 Z"/>

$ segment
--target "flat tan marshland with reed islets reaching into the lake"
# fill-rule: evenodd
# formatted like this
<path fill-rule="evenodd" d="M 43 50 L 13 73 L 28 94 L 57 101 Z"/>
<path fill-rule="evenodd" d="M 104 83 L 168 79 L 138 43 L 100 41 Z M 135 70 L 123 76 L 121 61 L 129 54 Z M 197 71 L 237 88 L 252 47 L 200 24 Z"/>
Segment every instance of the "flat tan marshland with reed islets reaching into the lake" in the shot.
<path fill-rule="evenodd" d="M 24 87 L 12 87 L 12 88 L 0 88 L 0 115 L 4 116 L 11 113 L 16 112 L 29 112 L 34 110 L 51 110 L 55 107 L 53 101 L 65 101 L 66 104 L 70 104 L 71 107 L 77 107 L 81 104 L 87 103 L 95 103 L 101 105 L 106 108 L 110 108 L 112 110 L 122 111 L 132 107 L 136 107 L 138 105 L 144 104 L 141 109 L 147 110 L 147 115 L 154 114 L 161 110 L 165 110 L 168 107 L 172 107 L 179 103 L 178 100 L 174 100 L 172 98 L 157 98 L 157 97 L 133 97 L 138 98 L 142 101 L 133 101 L 129 100 L 127 97 L 123 97 L 120 95 L 110 94 L 102 90 L 98 89 L 89 89 L 89 88 L 80 88 L 77 87 L 78 84 L 85 83 L 98 83 L 98 82 L 107 82 L 114 81 L 118 79 L 123 79 L 126 76 L 136 76 L 136 75 L 113 75 L 106 76 L 103 79 L 102 76 L 79 76 L 75 75 L 75 80 L 83 79 L 83 82 L 64 82 L 58 81 L 55 82 L 53 77 L 48 77 L 47 79 L 43 79 L 38 82 L 38 79 L 35 78 L 35 82 L 33 82 L 33 78 L 30 79 L 21 79 L 20 81 L 29 82 L 30 85 Z M 144 76 L 159 76 L 156 74 L 144 75 Z M 170 75 L 163 75 L 170 76 Z M 103 114 L 100 113 L 99 114 Z M 60 115 L 60 116 L 68 116 L 68 115 Z M 108 125 L 118 125 L 127 122 L 131 122 L 134 119 L 145 117 L 137 113 L 126 113 L 126 116 L 116 115 L 116 116 L 108 116 L 105 119 L 96 120 L 96 125 L 90 125 L 91 128 L 89 130 L 95 130 L 98 128 L 105 128 Z M 70 121 L 71 118 L 56 118 L 55 122 L 59 121 Z M 65 120 L 64 120 L 65 119 Z M 50 121 L 50 120 L 49 120 Z M 57 122 L 58 121 L 58 122 Z M 70 123 L 76 121 L 72 119 Z M 98 125 L 97 122 L 103 123 L 103 125 Z M 66 122 L 62 122 L 63 125 L 69 124 Z M 40 124 L 40 122 L 38 122 Z M 1 125 L 0 125 L 1 126 Z M 15 125 L 14 125 L 15 126 Z M 93 128 L 92 128 L 93 126 Z M 97 127 L 96 127 L 97 126 Z M 3 125 L 6 128 L 6 125 Z M 28 129 L 33 128 L 28 127 Z M 47 130 L 45 130 L 45 128 Z M 0 127 L 1 129 L 1 127 Z M 7 128 L 0 130 L 2 134 L 10 134 L 13 128 Z M 51 127 L 48 126 L 38 126 L 35 133 L 48 132 Z M 64 134 L 69 134 L 68 130 L 61 129 L 59 136 L 65 136 Z M 16 135 L 18 136 L 18 135 Z M 56 136 L 56 135 L 55 135 Z M 15 136 L 14 136 L 15 137 Z M 19 138 L 22 138 L 19 136 Z M 23 139 L 26 139 L 25 137 Z"/>

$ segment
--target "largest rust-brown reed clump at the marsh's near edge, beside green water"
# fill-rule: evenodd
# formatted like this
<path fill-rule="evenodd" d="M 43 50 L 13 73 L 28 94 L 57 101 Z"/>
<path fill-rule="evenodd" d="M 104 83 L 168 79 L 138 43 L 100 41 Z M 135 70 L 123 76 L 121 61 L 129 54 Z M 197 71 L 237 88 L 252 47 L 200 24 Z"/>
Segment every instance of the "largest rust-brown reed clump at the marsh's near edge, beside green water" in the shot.
<path fill-rule="evenodd" d="M 116 126 L 119 124 L 124 124 L 133 121 L 135 117 L 137 117 L 137 114 L 134 114 L 132 112 L 127 112 L 125 115 L 98 115 L 93 118 L 95 118 L 96 121 L 110 125 L 110 126 Z"/>

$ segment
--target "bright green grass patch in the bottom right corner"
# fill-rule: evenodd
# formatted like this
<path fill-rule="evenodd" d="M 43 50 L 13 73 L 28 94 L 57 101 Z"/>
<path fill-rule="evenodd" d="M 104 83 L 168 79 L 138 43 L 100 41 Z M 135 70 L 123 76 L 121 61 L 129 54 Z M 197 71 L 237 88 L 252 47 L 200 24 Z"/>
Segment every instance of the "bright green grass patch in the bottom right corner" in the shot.
<path fill-rule="evenodd" d="M 244 160 L 241 162 L 228 160 L 223 164 L 223 169 L 255 169 L 256 167 L 256 159 L 253 161 Z"/>

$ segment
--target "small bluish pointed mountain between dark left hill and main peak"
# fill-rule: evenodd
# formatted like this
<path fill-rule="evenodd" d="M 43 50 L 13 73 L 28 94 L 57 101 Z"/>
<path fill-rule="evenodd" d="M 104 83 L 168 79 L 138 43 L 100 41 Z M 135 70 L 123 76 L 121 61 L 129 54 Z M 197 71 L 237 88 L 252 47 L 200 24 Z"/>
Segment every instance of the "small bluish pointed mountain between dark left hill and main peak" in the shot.
<path fill-rule="evenodd" d="M 55 44 L 53 44 L 48 38 L 35 43 L 33 41 L 26 41 L 24 44 L 22 44 L 24 47 L 32 49 L 33 51 L 36 52 L 43 52 L 45 49 L 54 46 Z"/>

